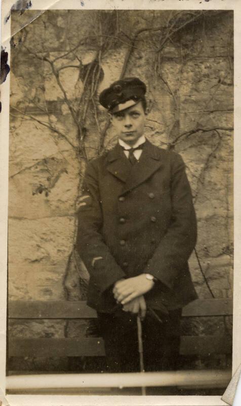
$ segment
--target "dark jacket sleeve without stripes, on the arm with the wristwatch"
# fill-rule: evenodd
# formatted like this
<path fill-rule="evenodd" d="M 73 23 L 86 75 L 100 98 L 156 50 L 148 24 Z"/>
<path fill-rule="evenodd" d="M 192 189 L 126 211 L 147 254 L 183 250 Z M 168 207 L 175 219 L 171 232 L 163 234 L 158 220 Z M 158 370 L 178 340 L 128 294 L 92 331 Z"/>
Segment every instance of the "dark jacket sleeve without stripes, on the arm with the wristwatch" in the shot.
<path fill-rule="evenodd" d="M 173 154 L 171 175 L 172 219 L 144 270 L 172 289 L 196 244 L 196 216 L 185 164 Z"/>

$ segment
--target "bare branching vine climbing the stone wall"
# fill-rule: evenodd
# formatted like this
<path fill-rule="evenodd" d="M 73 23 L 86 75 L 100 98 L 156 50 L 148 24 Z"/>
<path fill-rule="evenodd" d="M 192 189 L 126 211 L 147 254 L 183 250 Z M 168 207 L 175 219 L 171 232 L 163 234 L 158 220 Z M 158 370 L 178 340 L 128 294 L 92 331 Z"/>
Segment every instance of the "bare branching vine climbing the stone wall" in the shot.
<path fill-rule="evenodd" d="M 154 54 L 154 66 L 153 66 L 153 73 L 155 78 L 158 82 L 162 82 L 166 91 L 170 94 L 173 100 L 173 114 L 174 114 L 174 121 L 173 127 L 170 130 L 169 134 L 169 141 L 167 147 L 170 149 L 175 149 L 177 146 L 193 136 L 201 136 L 203 133 L 210 134 L 210 137 L 213 138 L 214 134 L 215 137 L 215 145 L 212 148 L 212 151 L 208 155 L 206 162 L 202 168 L 202 171 L 198 175 L 198 184 L 202 184 L 204 182 L 205 173 L 210 165 L 211 160 L 215 156 L 218 148 L 222 142 L 222 134 L 229 133 L 233 130 L 231 126 L 223 126 L 223 125 L 213 125 L 213 126 L 201 126 L 199 122 L 196 122 L 193 128 L 189 129 L 188 131 L 181 132 L 180 130 L 180 84 L 182 80 L 182 73 L 186 63 L 194 58 L 192 55 L 192 47 L 195 43 L 194 39 L 194 32 L 196 23 L 203 24 L 203 30 L 205 31 L 205 24 L 206 19 L 210 18 L 210 16 L 217 16 L 218 14 L 222 13 L 222 11 L 170 11 L 167 19 L 165 22 L 162 22 L 159 26 L 149 26 L 143 25 L 143 27 L 139 27 L 137 30 L 133 30 L 133 32 L 124 32 L 121 24 L 121 19 L 119 17 L 119 11 L 114 10 L 113 12 L 106 13 L 105 11 L 99 11 L 96 19 L 95 24 L 95 32 L 93 35 L 89 35 L 86 37 L 81 38 L 77 44 L 72 46 L 69 43 L 69 49 L 64 51 L 63 53 L 58 54 L 57 56 L 51 56 L 47 51 L 46 52 L 37 52 L 34 47 L 30 47 L 27 38 L 28 32 L 26 31 L 25 36 L 21 37 L 21 50 L 26 52 L 28 56 L 34 58 L 34 60 L 38 61 L 39 64 L 43 64 L 47 66 L 51 72 L 53 78 L 58 86 L 58 90 L 60 91 L 61 103 L 66 107 L 68 110 L 71 120 L 72 120 L 72 127 L 69 131 L 66 131 L 66 128 L 61 127 L 58 121 L 56 121 L 53 117 L 53 111 L 51 111 L 50 106 L 48 105 L 46 98 L 45 98 L 45 87 L 40 86 L 38 89 L 38 93 L 41 93 L 41 97 L 38 99 L 37 94 L 35 97 L 29 97 L 26 95 L 26 102 L 27 105 L 35 106 L 38 112 L 41 112 L 43 118 L 39 118 L 39 115 L 33 114 L 29 112 L 28 108 L 22 109 L 18 105 L 11 106 L 11 116 L 18 119 L 29 120 L 34 122 L 38 125 L 43 126 L 43 128 L 48 128 L 50 134 L 52 135 L 54 142 L 58 146 L 59 140 L 64 140 L 66 145 L 72 150 L 74 157 L 77 159 L 79 163 L 78 173 L 80 176 L 79 181 L 79 193 L 81 189 L 81 183 L 83 179 L 83 174 L 85 170 L 85 166 L 90 159 L 89 156 L 89 149 L 94 150 L 95 156 L 100 155 L 106 148 L 108 148 L 108 144 L 106 143 L 106 136 L 110 126 L 110 121 L 108 117 L 105 117 L 103 120 L 103 113 L 99 110 L 98 105 L 98 89 L 100 84 L 103 80 L 103 69 L 102 63 L 103 59 L 106 55 L 111 52 L 116 47 L 122 46 L 125 48 L 126 54 L 124 57 L 122 70 L 120 72 L 119 78 L 124 78 L 129 70 L 129 67 L 132 62 L 134 52 L 138 51 L 145 51 L 140 42 L 148 44 L 148 41 L 154 44 L 149 52 Z M 189 40 L 185 46 L 179 40 L 181 34 L 185 32 L 185 30 L 189 30 L 192 33 L 192 39 Z M 227 41 L 227 60 L 229 64 L 229 69 L 231 71 L 231 76 L 233 74 L 233 61 L 232 61 L 232 36 L 233 33 L 230 32 L 230 36 Z M 13 42 L 13 41 L 12 41 Z M 14 42 L 13 42 L 14 43 Z M 175 88 L 169 83 L 168 78 L 165 77 L 165 73 L 163 72 L 163 54 L 165 47 L 168 45 L 174 45 L 179 52 L 179 72 L 177 77 L 177 84 Z M 91 46 L 91 48 L 95 51 L 94 58 L 87 64 L 83 64 L 81 49 L 83 46 Z M 76 95 L 75 98 L 72 99 L 69 97 L 68 92 L 61 80 L 61 73 L 66 69 L 76 69 L 78 72 L 78 82 L 82 84 L 81 91 L 78 87 L 76 87 Z M 203 114 L 208 112 L 212 112 L 210 109 L 211 101 L 213 100 L 215 94 L 217 93 L 219 87 L 222 85 L 224 81 L 224 77 L 221 77 L 213 92 L 211 93 L 209 99 L 206 100 L 205 106 L 202 108 Z M 98 134 L 98 146 L 92 147 L 89 144 L 90 141 L 90 134 L 89 134 L 89 123 L 92 122 L 92 125 L 95 127 L 96 134 Z M 149 120 L 154 121 L 154 120 Z M 111 140 L 108 141 L 110 143 Z M 62 155 L 64 159 L 67 158 L 63 155 L 63 151 L 59 150 L 59 153 Z M 93 156 L 93 154 L 91 154 Z M 19 173 L 32 168 L 39 164 L 38 161 L 31 166 L 27 166 L 25 168 L 21 168 L 21 170 L 12 175 L 15 177 Z M 71 164 L 71 162 L 70 162 Z M 63 171 L 63 169 L 61 169 Z M 53 182 L 56 177 L 49 178 L 50 182 L 48 185 L 40 184 L 38 187 L 35 188 L 33 194 L 37 193 L 46 193 L 48 195 L 51 192 L 51 187 L 53 186 Z M 57 179 L 57 178 L 56 178 Z M 51 183 L 52 182 L 52 183 Z M 198 193 L 198 187 L 197 187 Z M 77 200 L 78 196 L 76 197 Z M 76 223 L 75 223 L 76 229 Z M 74 246 L 75 235 L 73 237 L 73 246 Z M 195 255 L 197 258 L 197 262 L 200 268 L 200 272 L 204 277 L 204 280 L 207 284 L 208 290 L 210 295 L 214 297 L 214 294 L 209 286 L 208 280 L 205 276 L 202 264 L 200 263 L 198 253 L 195 251 Z M 87 281 L 87 277 L 85 274 L 85 270 L 83 270 L 83 265 L 80 264 L 79 258 L 75 250 L 73 249 L 69 255 L 69 259 L 67 261 L 66 272 L 64 277 L 64 287 L 66 292 L 66 298 L 68 298 L 68 274 L 70 272 L 70 268 L 74 267 L 77 269 L 79 275 L 84 275 L 84 280 Z M 67 328 L 66 328 L 67 334 Z"/>

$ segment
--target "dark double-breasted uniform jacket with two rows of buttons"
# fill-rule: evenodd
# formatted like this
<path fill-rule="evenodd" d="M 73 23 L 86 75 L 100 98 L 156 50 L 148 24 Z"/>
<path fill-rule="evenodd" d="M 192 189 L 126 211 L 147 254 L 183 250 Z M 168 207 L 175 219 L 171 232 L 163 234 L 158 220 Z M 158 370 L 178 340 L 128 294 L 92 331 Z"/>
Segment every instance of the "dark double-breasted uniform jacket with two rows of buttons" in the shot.
<path fill-rule="evenodd" d="M 187 260 L 196 242 L 196 218 L 181 156 L 146 141 L 131 165 L 122 147 L 91 161 L 78 211 L 76 249 L 90 274 L 88 301 L 112 312 L 113 284 L 149 273 L 152 309 L 177 309 L 195 299 Z"/>

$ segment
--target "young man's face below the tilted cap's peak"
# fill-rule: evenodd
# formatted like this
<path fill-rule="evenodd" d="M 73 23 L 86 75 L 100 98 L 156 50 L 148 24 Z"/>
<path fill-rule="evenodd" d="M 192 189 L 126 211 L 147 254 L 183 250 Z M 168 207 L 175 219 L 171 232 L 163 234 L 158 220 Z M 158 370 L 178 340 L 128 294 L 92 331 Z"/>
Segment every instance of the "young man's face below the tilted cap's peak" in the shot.
<path fill-rule="evenodd" d="M 144 133 L 146 114 L 141 101 L 135 106 L 111 115 L 117 136 L 125 143 L 134 145 Z"/>

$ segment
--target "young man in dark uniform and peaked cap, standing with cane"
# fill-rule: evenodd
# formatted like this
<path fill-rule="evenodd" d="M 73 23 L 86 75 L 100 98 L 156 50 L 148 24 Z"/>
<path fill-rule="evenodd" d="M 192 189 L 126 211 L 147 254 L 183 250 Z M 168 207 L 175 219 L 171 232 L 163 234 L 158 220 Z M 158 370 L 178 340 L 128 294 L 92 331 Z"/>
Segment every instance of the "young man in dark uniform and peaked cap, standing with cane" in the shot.
<path fill-rule="evenodd" d="M 76 249 L 90 274 L 107 370 L 139 371 L 137 314 L 145 370 L 173 369 L 182 307 L 195 299 L 187 260 L 196 218 L 180 155 L 144 135 L 146 86 L 114 82 L 100 94 L 118 142 L 86 169 Z"/>

